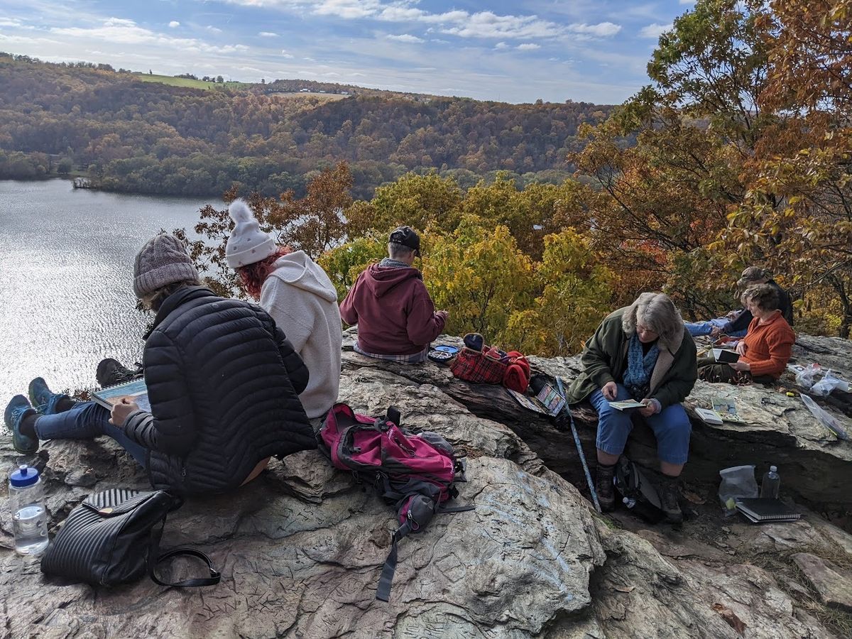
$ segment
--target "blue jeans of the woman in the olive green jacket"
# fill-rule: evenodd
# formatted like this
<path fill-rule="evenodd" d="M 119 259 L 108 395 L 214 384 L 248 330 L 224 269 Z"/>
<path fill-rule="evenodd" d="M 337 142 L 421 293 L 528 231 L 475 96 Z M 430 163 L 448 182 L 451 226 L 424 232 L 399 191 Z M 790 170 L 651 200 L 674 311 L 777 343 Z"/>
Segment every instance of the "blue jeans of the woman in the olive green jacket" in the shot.
<path fill-rule="evenodd" d="M 615 399 L 629 400 L 630 393 L 627 389 L 621 384 L 617 385 L 619 394 Z M 589 401 L 597 411 L 596 446 L 610 455 L 620 455 L 625 452 L 627 437 L 633 429 L 630 412 L 610 407 L 600 390 L 592 393 Z M 683 406 L 672 404 L 644 419 L 653 430 L 654 437 L 657 438 L 657 457 L 668 463 L 687 463 L 692 424 L 689 423 L 689 417 L 683 410 Z"/>

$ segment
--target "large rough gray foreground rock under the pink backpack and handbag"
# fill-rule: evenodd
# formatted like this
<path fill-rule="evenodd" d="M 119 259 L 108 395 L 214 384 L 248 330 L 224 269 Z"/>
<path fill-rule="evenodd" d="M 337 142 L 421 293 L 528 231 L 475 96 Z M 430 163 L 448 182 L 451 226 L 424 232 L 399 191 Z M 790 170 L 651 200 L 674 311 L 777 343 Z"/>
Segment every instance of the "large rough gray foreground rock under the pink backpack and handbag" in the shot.
<path fill-rule="evenodd" d="M 563 360 L 537 364 L 567 368 Z M 734 550 L 740 546 L 731 538 L 723 549 L 669 527 L 600 518 L 519 435 L 529 413 L 507 397 L 493 400 L 487 415 L 475 403 L 470 411 L 459 400 L 465 387 L 446 367 L 343 354 L 341 400 L 372 414 L 398 406 L 407 426 L 446 435 L 468 458 L 459 501 L 475 510 L 439 515 L 402 541 L 389 603 L 375 599 L 375 588 L 393 512 L 319 452 L 302 452 L 273 460 L 231 495 L 189 501 L 170 516 L 164 547 L 208 553 L 222 570 L 212 588 L 164 589 L 146 579 L 106 590 L 46 578 L 36 560 L 10 550 L 10 515 L 0 508 L 0 635 L 838 636 L 804 606 L 810 590 L 795 573 L 775 574 L 748 557 L 791 550 L 837 556 L 842 531 L 820 521 Z M 552 450 L 565 434 L 545 420 L 540 427 L 542 442 L 550 429 L 549 458 L 576 455 L 573 442 L 567 452 Z M 0 439 L 0 459 L 3 469 L 20 459 L 8 436 Z M 37 460 L 46 464 L 53 532 L 89 492 L 145 487 L 132 458 L 106 438 L 47 442 Z M 753 530 L 737 526 L 743 530 L 734 536 Z M 822 546 L 803 545 L 811 530 Z M 197 573 L 189 560 L 165 571 Z"/>

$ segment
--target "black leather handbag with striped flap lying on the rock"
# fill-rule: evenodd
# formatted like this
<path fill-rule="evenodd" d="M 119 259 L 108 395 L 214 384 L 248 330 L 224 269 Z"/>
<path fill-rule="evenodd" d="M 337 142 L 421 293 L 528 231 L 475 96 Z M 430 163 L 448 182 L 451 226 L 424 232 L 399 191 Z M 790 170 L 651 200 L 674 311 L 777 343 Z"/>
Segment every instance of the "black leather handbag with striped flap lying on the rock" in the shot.
<path fill-rule="evenodd" d="M 159 555 L 165 517 L 181 503 L 164 491 L 95 492 L 66 518 L 42 557 L 42 572 L 95 586 L 128 584 L 146 573 L 160 585 L 218 584 L 221 575 L 200 550 L 178 548 Z M 158 564 L 179 555 L 206 562 L 210 577 L 176 583 L 160 580 L 155 573 Z"/>

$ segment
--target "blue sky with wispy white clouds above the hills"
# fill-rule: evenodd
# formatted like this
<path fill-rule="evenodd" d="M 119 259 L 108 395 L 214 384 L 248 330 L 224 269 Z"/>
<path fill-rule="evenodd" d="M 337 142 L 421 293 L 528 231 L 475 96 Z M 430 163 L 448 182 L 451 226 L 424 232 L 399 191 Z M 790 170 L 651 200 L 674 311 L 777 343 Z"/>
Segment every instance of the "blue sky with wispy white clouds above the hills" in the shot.
<path fill-rule="evenodd" d="M 0 51 L 243 82 L 619 104 L 693 0 L 0 0 Z M 2 90 L 2 89 L 0 89 Z"/>

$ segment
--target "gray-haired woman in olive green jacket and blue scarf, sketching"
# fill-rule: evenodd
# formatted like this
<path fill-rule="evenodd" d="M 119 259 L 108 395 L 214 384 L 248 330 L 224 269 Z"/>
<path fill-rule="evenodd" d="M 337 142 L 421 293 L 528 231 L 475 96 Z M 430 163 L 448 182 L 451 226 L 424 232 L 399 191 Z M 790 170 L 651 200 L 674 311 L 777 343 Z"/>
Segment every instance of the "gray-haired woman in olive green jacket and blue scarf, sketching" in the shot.
<path fill-rule="evenodd" d="M 615 464 L 633 428 L 630 411 L 619 411 L 610 402 L 633 399 L 642 402 L 633 410 L 657 438 L 666 518 L 681 521 L 677 477 L 688 458 L 692 430 L 681 402 L 692 390 L 697 370 L 695 343 L 674 303 L 663 293 L 642 293 L 601 322 L 581 360 L 584 371 L 567 394 L 572 403 L 590 400 L 598 413 L 596 489 L 602 508 L 613 508 Z"/>

